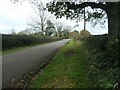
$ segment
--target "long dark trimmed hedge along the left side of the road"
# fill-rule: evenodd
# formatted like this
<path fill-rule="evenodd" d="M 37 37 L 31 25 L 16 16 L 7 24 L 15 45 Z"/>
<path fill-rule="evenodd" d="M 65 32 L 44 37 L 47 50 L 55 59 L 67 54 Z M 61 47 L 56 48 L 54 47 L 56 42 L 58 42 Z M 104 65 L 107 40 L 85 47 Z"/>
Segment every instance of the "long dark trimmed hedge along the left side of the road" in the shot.
<path fill-rule="evenodd" d="M 2 50 L 12 49 L 16 47 L 24 47 L 35 44 L 42 44 L 60 40 L 59 37 L 52 36 L 30 36 L 30 35 L 6 35 L 2 34 Z"/>

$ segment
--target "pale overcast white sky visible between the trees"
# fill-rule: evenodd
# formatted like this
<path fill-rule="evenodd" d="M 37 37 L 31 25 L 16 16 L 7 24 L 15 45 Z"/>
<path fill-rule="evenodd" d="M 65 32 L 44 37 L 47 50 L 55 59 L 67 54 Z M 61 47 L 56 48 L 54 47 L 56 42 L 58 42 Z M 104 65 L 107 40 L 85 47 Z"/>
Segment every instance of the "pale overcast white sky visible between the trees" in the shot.
<path fill-rule="evenodd" d="M 42 0 L 44 3 L 49 0 Z M 27 23 L 30 21 L 33 9 L 30 4 L 24 2 L 21 4 L 13 4 L 10 0 L 0 0 L 0 33 L 9 34 L 12 29 L 15 32 L 25 30 L 27 28 Z M 73 27 L 76 25 L 75 21 L 66 20 L 65 18 L 59 19 L 63 24 L 70 25 Z M 83 21 L 79 22 L 79 27 L 75 28 L 80 31 L 83 29 Z M 105 34 L 108 33 L 107 23 L 105 28 L 101 28 L 99 25 L 93 28 L 89 23 L 87 23 L 86 29 L 91 34 Z"/>

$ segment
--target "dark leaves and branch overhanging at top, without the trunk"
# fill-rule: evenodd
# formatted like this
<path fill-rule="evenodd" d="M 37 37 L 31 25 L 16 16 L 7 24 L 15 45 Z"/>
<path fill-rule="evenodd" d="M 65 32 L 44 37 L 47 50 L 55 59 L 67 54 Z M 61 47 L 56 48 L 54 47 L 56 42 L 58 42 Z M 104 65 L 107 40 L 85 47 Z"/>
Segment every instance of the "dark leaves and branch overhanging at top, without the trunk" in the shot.
<path fill-rule="evenodd" d="M 85 21 L 91 22 L 92 26 L 100 24 L 102 27 L 106 22 L 105 4 L 102 2 L 50 2 L 47 3 L 47 9 L 53 13 L 56 18 L 66 17 L 67 19 L 76 20 L 77 22 L 84 18 L 84 8 L 86 7 Z M 92 8 L 91 8 L 92 7 Z M 99 8 L 99 9 L 98 9 Z M 100 9 L 101 8 L 101 9 Z M 93 9 L 93 10 L 92 10 Z"/>

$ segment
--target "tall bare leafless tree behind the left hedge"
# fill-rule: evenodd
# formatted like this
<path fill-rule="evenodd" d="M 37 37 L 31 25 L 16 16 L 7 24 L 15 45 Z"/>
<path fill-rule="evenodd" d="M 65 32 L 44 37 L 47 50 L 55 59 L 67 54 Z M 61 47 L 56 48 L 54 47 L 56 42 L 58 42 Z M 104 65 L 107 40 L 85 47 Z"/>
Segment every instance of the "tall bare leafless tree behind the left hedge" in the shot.
<path fill-rule="evenodd" d="M 36 33 L 41 32 L 41 35 L 45 34 L 45 27 L 47 20 L 50 18 L 48 12 L 45 9 L 45 5 L 40 0 L 30 1 L 33 5 L 35 15 L 31 17 L 32 21 L 28 23 L 31 29 Z"/>

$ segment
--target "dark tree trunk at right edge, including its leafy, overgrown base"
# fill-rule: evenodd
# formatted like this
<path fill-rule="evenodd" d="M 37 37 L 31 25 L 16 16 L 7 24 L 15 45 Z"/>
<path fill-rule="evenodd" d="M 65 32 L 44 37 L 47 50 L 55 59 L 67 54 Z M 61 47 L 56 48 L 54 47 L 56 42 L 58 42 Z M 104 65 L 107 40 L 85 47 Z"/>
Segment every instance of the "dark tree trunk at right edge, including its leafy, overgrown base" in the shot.
<path fill-rule="evenodd" d="M 108 15 L 108 34 L 109 34 L 109 47 L 110 57 L 113 61 L 120 66 L 120 13 L 119 3 L 109 2 L 107 3 L 107 15 Z M 111 58 L 110 58 L 111 59 Z"/>

